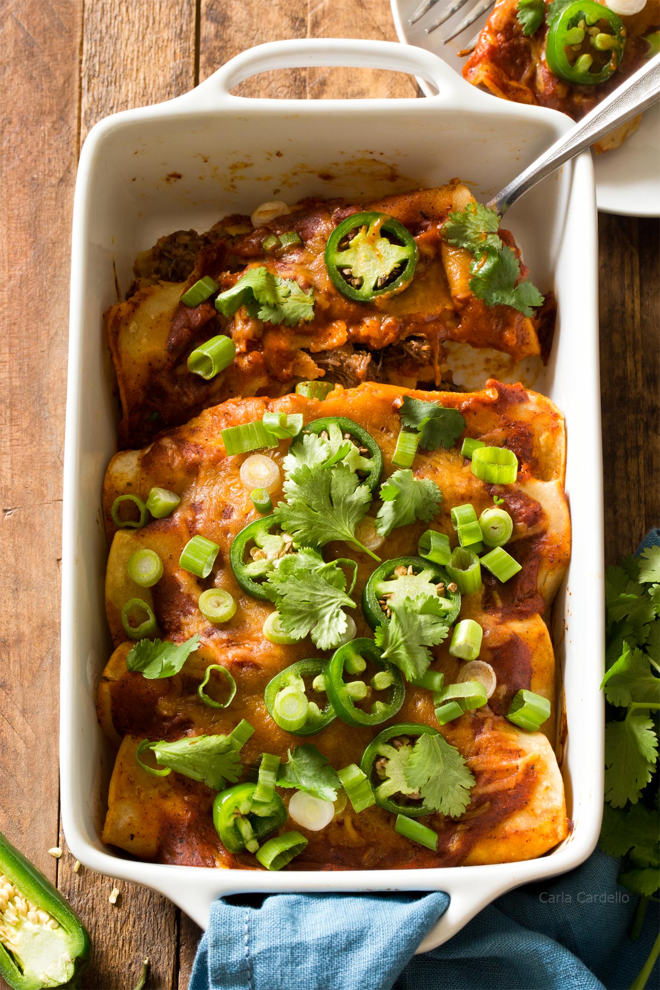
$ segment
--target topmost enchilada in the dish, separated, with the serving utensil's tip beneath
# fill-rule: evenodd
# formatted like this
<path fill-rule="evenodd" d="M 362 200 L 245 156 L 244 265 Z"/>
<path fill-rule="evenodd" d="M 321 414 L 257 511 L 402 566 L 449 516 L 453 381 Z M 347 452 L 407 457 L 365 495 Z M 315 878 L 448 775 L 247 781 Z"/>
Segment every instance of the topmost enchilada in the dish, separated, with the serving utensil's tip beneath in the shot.
<path fill-rule="evenodd" d="M 530 291 L 513 236 L 490 224 L 501 263 L 481 273 L 469 238 L 444 237 L 448 218 L 475 206 L 453 181 L 367 204 L 264 204 L 204 235 L 161 238 L 139 256 L 130 297 L 106 314 L 121 446 L 301 380 L 452 388 L 451 343 L 545 359 L 554 300 Z M 352 228 L 351 216 L 368 226 Z M 190 373 L 191 354 L 218 336 L 231 340 L 233 359 L 212 377 Z"/>

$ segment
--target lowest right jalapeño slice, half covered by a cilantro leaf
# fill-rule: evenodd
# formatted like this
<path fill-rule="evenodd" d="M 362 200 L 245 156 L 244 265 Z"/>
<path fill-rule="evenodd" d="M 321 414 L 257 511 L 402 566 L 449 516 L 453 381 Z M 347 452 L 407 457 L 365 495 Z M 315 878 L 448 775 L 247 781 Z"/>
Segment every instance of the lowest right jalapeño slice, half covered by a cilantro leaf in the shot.
<path fill-rule="evenodd" d="M 366 747 L 360 769 L 373 787 L 376 804 L 394 815 L 430 815 L 419 793 L 406 783 L 406 764 L 420 736 L 438 736 L 436 729 L 415 722 L 388 726 Z"/>

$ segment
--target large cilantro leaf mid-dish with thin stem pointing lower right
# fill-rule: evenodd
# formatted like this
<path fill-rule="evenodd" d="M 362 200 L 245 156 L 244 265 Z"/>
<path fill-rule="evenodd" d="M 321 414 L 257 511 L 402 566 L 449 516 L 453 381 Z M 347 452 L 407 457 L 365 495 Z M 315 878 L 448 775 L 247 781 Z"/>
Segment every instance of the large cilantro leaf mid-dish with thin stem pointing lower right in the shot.
<path fill-rule="evenodd" d="M 298 545 L 325 546 L 342 540 L 374 556 L 355 539 L 355 527 L 366 515 L 371 491 L 346 464 L 328 471 L 299 467 L 284 482 L 284 491 L 287 501 L 276 506 L 274 516 Z"/>

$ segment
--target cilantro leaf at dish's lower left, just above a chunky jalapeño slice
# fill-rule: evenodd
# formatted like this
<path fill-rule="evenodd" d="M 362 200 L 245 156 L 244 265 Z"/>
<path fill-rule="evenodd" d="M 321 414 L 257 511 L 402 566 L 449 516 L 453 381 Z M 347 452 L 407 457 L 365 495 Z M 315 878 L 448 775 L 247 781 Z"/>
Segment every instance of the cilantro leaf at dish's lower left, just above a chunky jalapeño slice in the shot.
<path fill-rule="evenodd" d="M 153 743 L 149 748 L 163 766 L 199 780 L 214 791 L 224 790 L 228 780 L 236 784 L 242 773 L 236 743 L 230 736 L 187 737 L 173 743 Z"/>

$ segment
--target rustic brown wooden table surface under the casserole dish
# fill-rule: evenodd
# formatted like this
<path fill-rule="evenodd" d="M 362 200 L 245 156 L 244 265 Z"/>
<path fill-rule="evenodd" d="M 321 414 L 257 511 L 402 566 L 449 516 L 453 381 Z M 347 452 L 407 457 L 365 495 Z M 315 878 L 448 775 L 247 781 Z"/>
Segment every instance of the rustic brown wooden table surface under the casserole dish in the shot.
<path fill-rule="evenodd" d="M 84 868 L 57 782 L 60 515 L 69 242 L 78 152 L 100 118 L 178 96 L 281 38 L 396 40 L 387 0 L 5 0 L 0 19 L 2 626 L 0 830 L 56 882 L 94 942 L 85 990 L 185 988 L 199 929 L 164 898 Z M 281 97 L 414 96 L 412 78 L 293 70 L 244 83 Z M 658 222 L 601 215 L 606 551 L 660 517 Z M 59 860 L 47 853 L 59 844 Z M 0 979 L 0 983 L 2 980 Z"/>

